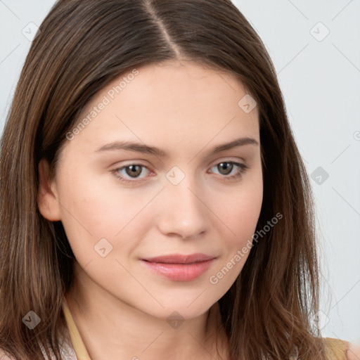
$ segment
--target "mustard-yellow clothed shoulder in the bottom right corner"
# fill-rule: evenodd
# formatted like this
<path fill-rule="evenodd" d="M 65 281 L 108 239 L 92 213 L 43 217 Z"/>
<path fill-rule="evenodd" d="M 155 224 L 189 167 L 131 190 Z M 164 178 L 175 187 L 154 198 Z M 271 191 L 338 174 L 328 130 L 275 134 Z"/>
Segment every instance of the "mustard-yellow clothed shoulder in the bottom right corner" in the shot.
<path fill-rule="evenodd" d="M 326 358 L 328 360 L 359 360 L 360 347 L 346 340 L 325 338 Z"/>

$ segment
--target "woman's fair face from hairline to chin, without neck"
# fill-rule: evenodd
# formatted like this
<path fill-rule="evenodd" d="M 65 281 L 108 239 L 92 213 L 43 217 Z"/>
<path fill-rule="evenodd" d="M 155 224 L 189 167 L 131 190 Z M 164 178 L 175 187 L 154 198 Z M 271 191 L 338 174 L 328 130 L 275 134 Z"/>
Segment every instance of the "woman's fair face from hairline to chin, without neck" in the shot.
<path fill-rule="evenodd" d="M 257 107 L 245 95 L 232 75 L 171 61 L 122 75 L 83 110 L 39 207 L 62 221 L 91 296 L 187 319 L 229 290 L 263 195 Z M 253 140 L 225 146 L 241 138 Z M 144 260 L 195 253 L 213 259 Z"/>

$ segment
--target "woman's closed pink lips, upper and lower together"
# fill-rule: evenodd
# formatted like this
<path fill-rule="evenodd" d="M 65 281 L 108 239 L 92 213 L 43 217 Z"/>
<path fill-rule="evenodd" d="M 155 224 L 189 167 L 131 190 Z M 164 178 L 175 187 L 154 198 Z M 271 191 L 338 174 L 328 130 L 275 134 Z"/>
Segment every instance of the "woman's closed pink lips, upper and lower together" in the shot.
<path fill-rule="evenodd" d="M 141 259 L 156 273 L 173 281 L 191 281 L 209 269 L 215 257 L 205 254 L 167 255 Z"/>

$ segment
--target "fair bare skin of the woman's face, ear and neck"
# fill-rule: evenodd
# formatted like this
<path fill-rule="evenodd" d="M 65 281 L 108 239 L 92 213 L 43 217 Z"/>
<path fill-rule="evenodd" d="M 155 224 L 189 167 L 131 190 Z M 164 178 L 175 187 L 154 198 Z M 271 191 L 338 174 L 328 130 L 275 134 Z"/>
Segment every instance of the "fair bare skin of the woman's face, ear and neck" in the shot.
<path fill-rule="evenodd" d="M 238 106 L 247 92 L 236 77 L 198 63 L 168 61 L 138 70 L 66 143 L 54 179 L 45 160 L 39 165 L 39 210 L 46 219 L 62 221 L 76 257 L 74 283 L 65 296 L 93 360 L 214 359 L 216 345 L 226 359 L 217 300 L 249 253 L 216 284 L 209 279 L 256 229 L 263 197 L 257 108 L 245 113 Z M 79 120 L 122 77 L 96 94 Z M 240 137 L 258 145 L 209 155 L 214 146 Z M 96 152 L 122 140 L 157 146 L 169 156 Z M 236 165 L 221 172 L 219 164 L 231 161 L 249 167 L 239 179 L 229 179 L 240 170 Z M 137 177 L 125 168 L 117 171 L 134 183 L 112 172 L 136 164 L 144 165 Z M 185 176 L 177 185 L 166 176 L 174 166 Z M 113 246 L 105 257 L 94 250 L 101 238 Z M 194 252 L 217 258 L 193 281 L 163 278 L 140 260 Z M 184 319 L 178 328 L 167 322 L 173 311 Z"/>

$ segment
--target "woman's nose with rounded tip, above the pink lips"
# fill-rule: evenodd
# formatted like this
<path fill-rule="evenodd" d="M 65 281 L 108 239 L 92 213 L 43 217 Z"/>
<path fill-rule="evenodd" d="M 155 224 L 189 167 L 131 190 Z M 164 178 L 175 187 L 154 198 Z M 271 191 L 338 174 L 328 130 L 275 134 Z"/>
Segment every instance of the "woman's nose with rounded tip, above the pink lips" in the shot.
<path fill-rule="evenodd" d="M 209 229 L 210 210 L 204 191 L 195 181 L 185 178 L 177 185 L 165 182 L 158 203 L 158 227 L 166 236 L 197 238 Z"/>

